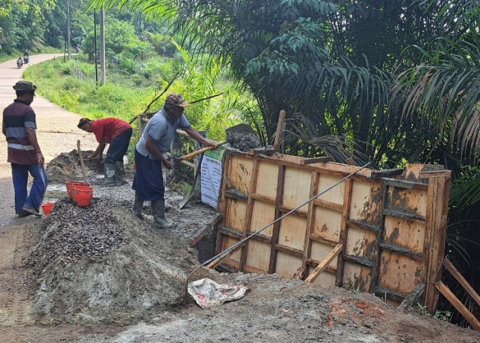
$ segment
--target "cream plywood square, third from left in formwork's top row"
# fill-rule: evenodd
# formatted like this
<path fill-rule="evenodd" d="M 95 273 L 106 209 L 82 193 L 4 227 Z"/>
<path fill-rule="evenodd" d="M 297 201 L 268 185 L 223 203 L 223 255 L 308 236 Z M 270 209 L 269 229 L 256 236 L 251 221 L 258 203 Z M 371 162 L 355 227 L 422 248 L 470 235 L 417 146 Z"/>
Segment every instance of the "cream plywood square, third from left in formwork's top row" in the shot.
<path fill-rule="evenodd" d="M 287 167 L 283 189 L 283 206 L 294 209 L 310 198 L 311 171 Z M 308 205 L 302 206 L 301 211 L 307 211 Z"/>

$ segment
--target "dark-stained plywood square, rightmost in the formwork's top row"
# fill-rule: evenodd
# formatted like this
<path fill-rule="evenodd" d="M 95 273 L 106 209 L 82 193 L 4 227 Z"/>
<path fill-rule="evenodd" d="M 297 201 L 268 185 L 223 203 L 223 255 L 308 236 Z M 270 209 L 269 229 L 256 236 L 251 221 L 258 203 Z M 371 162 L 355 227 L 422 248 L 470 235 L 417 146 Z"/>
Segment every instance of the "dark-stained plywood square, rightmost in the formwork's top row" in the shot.
<path fill-rule="evenodd" d="M 387 206 L 395 211 L 424 217 L 427 214 L 427 192 L 391 186 L 388 190 Z"/>

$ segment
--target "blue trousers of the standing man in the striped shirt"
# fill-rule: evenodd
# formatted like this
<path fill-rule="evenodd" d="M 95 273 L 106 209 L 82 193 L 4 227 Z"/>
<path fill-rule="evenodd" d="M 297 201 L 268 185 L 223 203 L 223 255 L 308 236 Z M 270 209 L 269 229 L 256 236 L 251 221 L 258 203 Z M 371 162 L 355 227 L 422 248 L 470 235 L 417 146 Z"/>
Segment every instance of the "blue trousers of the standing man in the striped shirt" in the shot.
<path fill-rule="evenodd" d="M 34 178 L 30 193 L 27 191 L 28 173 Z M 47 172 L 39 165 L 17 165 L 12 163 L 12 180 L 15 191 L 15 213 L 25 205 L 38 211 L 47 191 Z"/>

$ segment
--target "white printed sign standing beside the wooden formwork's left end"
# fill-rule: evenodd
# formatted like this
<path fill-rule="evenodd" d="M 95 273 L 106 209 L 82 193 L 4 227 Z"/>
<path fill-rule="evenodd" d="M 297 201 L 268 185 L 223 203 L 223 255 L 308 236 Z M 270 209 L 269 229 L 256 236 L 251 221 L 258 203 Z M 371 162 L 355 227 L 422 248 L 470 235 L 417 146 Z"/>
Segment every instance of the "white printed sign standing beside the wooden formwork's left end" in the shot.
<path fill-rule="evenodd" d="M 221 158 L 224 147 L 205 152 L 202 159 L 202 202 L 217 207 L 221 181 Z"/>

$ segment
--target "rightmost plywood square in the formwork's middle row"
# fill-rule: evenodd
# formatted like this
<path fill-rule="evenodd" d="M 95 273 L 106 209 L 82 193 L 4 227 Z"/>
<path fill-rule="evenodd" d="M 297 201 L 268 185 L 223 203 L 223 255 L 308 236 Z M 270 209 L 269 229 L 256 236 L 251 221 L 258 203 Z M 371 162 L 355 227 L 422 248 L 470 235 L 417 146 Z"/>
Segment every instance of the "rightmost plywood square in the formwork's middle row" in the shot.
<path fill-rule="evenodd" d="M 385 243 L 405 246 L 413 252 L 423 254 L 425 241 L 425 224 L 416 220 L 404 220 L 385 217 Z"/>

